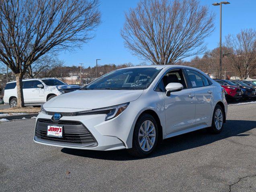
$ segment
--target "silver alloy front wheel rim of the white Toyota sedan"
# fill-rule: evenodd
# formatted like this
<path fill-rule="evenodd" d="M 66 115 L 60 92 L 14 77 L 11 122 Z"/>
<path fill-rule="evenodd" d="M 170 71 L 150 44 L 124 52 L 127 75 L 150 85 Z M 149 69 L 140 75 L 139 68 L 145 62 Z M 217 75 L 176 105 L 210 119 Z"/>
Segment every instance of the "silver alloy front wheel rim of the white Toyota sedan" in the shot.
<path fill-rule="evenodd" d="M 156 141 L 156 128 L 150 120 L 144 121 L 139 129 L 139 145 L 143 151 L 149 151 Z"/>

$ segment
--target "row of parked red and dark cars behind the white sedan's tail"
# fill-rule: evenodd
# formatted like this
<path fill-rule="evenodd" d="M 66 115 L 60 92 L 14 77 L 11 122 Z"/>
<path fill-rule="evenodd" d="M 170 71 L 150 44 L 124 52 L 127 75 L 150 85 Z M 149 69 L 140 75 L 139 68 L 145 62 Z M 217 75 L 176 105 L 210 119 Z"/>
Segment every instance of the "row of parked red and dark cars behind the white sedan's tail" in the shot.
<path fill-rule="evenodd" d="M 215 79 L 225 90 L 227 100 L 252 100 L 256 99 L 256 84 L 245 80 Z"/>

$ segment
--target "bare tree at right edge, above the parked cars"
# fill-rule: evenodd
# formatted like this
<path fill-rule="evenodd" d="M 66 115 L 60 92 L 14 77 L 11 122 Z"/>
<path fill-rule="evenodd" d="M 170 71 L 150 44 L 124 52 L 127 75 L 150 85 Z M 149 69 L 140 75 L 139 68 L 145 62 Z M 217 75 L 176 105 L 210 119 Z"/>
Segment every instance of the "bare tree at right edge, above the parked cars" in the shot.
<path fill-rule="evenodd" d="M 256 30 L 241 30 L 236 36 L 228 35 L 225 45 L 229 49 L 230 65 L 241 79 L 248 78 L 256 69 Z"/>

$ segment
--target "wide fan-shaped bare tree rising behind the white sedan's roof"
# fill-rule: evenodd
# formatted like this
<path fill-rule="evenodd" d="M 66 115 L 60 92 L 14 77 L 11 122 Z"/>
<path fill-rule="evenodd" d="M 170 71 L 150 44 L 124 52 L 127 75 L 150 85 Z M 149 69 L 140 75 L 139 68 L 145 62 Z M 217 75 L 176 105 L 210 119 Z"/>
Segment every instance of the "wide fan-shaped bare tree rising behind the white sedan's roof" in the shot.
<path fill-rule="evenodd" d="M 206 50 L 215 15 L 198 0 L 141 0 L 125 14 L 125 46 L 154 64 L 174 64 Z"/>

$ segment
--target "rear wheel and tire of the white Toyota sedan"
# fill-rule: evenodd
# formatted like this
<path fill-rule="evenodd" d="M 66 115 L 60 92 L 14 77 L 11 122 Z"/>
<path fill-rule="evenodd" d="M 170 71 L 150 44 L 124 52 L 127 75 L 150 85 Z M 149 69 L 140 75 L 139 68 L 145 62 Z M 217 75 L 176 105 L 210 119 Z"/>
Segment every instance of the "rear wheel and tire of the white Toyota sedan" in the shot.
<path fill-rule="evenodd" d="M 215 123 L 216 122 L 216 123 Z M 222 107 L 217 104 L 213 111 L 213 119 L 211 123 L 211 127 L 208 128 L 209 132 L 218 134 L 223 130 L 224 125 L 224 112 Z"/>

